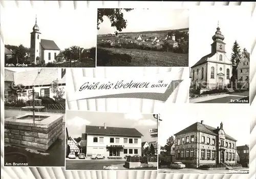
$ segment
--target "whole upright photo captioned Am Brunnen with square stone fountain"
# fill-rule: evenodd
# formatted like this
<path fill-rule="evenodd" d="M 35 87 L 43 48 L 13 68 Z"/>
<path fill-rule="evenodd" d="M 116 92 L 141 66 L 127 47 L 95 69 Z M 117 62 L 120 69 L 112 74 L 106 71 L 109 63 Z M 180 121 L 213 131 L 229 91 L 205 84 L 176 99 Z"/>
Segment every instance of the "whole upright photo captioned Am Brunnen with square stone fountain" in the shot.
<path fill-rule="evenodd" d="M 5 166 L 65 165 L 65 68 L 5 68 Z"/>

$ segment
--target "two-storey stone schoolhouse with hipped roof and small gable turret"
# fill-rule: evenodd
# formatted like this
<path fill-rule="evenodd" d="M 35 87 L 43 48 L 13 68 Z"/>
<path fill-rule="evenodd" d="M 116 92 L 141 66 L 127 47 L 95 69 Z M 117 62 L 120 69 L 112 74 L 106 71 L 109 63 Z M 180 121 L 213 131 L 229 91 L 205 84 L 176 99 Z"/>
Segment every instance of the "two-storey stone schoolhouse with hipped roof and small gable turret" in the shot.
<path fill-rule="evenodd" d="M 237 163 L 236 142 L 225 133 L 222 122 L 215 128 L 201 120 L 175 134 L 175 162 L 193 168 L 216 164 L 228 167 Z"/>

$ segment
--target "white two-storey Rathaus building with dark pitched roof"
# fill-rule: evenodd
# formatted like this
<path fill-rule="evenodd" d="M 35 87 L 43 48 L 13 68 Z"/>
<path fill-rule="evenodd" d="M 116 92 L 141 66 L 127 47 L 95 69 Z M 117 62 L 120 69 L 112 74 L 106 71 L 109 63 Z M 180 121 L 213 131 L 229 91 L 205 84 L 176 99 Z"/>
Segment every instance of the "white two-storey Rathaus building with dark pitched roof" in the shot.
<path fill-rule="evenodd" d="M 136 129 L 86 126 L 87 156 L 101 154 L 105 158 L 141 156 L 141 136 Z"/>

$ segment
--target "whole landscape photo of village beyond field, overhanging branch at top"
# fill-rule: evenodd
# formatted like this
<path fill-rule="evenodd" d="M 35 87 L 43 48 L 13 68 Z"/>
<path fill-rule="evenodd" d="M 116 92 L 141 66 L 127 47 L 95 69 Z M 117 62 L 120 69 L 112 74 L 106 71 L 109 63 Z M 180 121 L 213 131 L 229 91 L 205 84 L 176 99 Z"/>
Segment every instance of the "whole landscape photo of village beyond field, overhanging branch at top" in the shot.
<path fill-rule="evenodd" d="M 152 17 L 151 23 L 137 23 L 153 11 L 156 10 L 98 9 L 97 66 L 188 66 L 188 16 L 182 22 L 157 22 Z M 171 10 L 157 16 L 179 17 L 183 11 Z M 109 14 L 117 18 L 113 20 Z"/>

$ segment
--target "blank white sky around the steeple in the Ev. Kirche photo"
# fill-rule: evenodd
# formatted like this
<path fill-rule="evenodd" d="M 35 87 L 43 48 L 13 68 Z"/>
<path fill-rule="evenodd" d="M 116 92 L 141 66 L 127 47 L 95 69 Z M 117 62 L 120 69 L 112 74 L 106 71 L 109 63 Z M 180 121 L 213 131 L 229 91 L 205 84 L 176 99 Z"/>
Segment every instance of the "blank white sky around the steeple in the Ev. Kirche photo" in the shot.
<path fill-rule="evenodd" d="M 249 7 L 249 6 L 248 6 Z M 251 9 L 244 6 L 196 7 L 189 10 L 189 66 L 197 63 L 203 56 L 210 54 L 218 27 L 224 35 L 226 55 L 230 60 L 235 40 L 241 50 L 250 52 L 250 16 Z"/>

